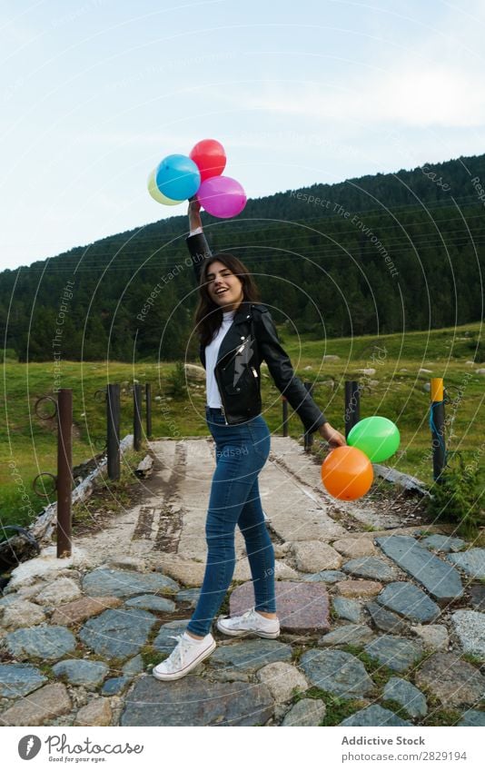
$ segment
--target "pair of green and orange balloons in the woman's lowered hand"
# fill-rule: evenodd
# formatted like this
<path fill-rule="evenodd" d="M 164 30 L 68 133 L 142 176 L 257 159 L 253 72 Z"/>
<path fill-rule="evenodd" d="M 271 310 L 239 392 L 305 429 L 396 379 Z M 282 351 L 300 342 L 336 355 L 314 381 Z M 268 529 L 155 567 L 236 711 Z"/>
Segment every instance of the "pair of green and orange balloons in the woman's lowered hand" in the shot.
<path fill-rule="evenodd" d="M 332 450 L 323 461 L 324 488 L 333 498 L 361 498 L 371 488 L 372 462 L 391 458 L 399 443 L 399 430 L 392 420 L 379 415 L 359 420 L 347 437 L 347 447 Z"/>

